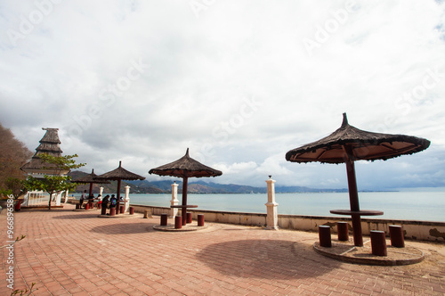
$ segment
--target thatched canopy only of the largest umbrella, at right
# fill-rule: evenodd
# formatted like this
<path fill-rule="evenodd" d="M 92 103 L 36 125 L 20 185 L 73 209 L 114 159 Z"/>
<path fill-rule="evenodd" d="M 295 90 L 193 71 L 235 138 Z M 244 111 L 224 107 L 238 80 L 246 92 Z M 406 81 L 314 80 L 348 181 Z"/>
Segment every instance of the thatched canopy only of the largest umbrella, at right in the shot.
<path fill-rule="evenodd" d="M 334 133 L 287 152 L 286 160 L 326 163 L 341 163 L 345 157 L 350 160 L 388 160 L 421 152 L 430 145 L 430 141 L 416 136 L 380 134 L 352 127 L 346 113 L 343 115 L 342 126 Z M 349 153 L 346 153 L 346 147 Z"/>

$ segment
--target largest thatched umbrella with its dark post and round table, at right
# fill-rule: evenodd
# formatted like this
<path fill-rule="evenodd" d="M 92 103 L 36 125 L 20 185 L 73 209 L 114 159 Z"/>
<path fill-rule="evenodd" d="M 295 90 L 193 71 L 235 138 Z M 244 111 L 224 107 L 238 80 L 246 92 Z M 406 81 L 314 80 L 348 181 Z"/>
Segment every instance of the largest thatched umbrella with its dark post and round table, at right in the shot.
<path fill-rule="evenodd" d="M 352 215 L 354 244 L 363 245 L 360 216 L 382 215 L 381 211 L 360 210 L 355 160 L 388 160 L 403 154 L 421 152 L 430 141 L 416 136 L 372 133 L 348 124 L 346 113 L 343 123 L 334 133 L 319 141 L 305 144 L 286 153 L 286 160 L 293 162 L 346 163 L 351 210 L 332 210 L 335 214 Z"/>

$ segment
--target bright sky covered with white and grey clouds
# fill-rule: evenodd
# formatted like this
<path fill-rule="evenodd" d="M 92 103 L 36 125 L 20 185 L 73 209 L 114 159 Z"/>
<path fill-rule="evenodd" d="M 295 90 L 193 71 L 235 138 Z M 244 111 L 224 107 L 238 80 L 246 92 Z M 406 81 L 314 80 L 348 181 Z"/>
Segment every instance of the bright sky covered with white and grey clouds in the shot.
<path fill-rule="evenodd" d="M 190 156 L 223 184 L 347 187 L 285 153 L 352 126 L 430 148 L 358 162 L 359 189 L 445 186 L 442 1 L 2 1 L 0 122 L 58 127 L 84 171 Z"/>

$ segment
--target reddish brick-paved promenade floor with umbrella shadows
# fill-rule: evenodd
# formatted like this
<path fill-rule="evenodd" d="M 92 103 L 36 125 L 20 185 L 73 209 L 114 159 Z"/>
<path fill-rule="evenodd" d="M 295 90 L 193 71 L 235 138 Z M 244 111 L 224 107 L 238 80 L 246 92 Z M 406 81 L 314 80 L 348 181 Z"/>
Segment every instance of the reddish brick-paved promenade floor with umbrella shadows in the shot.
<path fill-rule="evenodd" d="M 159 232 L 159 218 L 98 218 L 99 210 L 14 213 L 14 289 L 34 295 L 443 295 L 445 244 L 407 241 L 424 261 L 348 264 L 316 253 L 318 234 L 208 223 Z M 174 223 L 169 219 L 169 223 Z M 0 215 L 2 245 L 5 211 Z M 9 295 L 2 249 L 0 295 Z M 35 290 L 37 289 L 37 290 Z"/>

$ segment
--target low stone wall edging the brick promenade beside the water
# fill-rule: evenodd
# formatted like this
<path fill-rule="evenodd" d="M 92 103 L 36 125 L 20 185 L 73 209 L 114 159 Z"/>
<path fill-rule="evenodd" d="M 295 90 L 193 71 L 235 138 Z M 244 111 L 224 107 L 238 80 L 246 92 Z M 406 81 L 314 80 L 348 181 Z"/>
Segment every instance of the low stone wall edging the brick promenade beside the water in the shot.
<path fill-rule="evenodd" d="M 143 213 L 150 209 L 153 215 L 170 214 L 170 208 L 152 207 L 142 205 L 131 205 L 135 212 Z M 266 214 L 239 213 L 215 210 L 189 210 L 192 218 L 196 219 L 198 214 L 204 214 L 207 222 L 230 223 L 247 226 L 266 226 Z M 181 215 L 179 210 L 178 215 Z M 323 216 L 296 216 L 279 215 L 278 225 L 283 229 L 294 229 L 303 231 L 318 232 L 318 226 L 328 225 L 332 228 L 332 233 L 336 234 L 336 222 L 346 221 L 352 230 L 351 218 L 344 217 L 323 217 Z M 414 221 L 414 220 L 386 220 L 376 218 L 362 218 L 361 227 L 364 235 L 369 235 L 370 230 L 383 230 L 389 235 L 390 225 L 400 225 L 403 228 L 405 238 L 420 240 L 445 242 L 445 222 Z"/>

